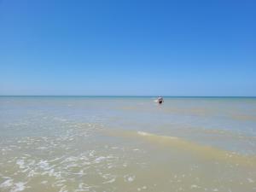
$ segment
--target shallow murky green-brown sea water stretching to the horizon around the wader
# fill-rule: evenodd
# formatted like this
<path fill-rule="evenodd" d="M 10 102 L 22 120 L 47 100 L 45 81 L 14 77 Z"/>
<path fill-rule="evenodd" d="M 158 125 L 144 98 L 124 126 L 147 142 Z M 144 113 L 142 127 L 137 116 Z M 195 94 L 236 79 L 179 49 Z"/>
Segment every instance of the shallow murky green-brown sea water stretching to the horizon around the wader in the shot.
<path fill-rule="evenodd" d="M 256 191 L 256 99 L 0 96 L 0 191 Z"/>

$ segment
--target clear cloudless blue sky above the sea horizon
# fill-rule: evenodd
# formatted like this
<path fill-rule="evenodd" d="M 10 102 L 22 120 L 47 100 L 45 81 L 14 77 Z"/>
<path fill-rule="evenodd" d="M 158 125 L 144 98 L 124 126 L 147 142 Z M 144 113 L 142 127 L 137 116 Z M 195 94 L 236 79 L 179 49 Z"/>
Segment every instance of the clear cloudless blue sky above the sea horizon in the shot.
<path fill-rule="evenodd" d="M 256 96 L 256 1 L 0 0 L 0 95 Z"/>

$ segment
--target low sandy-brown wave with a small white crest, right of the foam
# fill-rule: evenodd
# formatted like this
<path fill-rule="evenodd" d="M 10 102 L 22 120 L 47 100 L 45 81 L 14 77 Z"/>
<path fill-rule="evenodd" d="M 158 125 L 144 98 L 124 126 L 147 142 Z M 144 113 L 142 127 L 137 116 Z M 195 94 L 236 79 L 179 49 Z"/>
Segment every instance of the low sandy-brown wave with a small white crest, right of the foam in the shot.
<path fill-rule="evenodd" d="M 106 130 L 105 130 L 106 131 Z M 148 143 L 160 145 L 166 149 L 177 149 L 181 153 L 193 154 L 196 157 L 204 158 L 213 161 L 223 161 L 234 164 L 236 166 L 253 166 L 256 167 L 256 157 L 237 154 L 232 151 L 227 151 L 221 148 L 195 143 L 181 137 L 161 136 L 145 131 L 120 131 L 108 130 L 109 135 L 115 137 L 129 137 L 133 139 L 143 139 Z"/>

